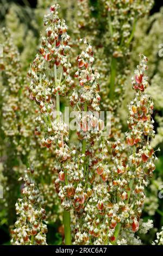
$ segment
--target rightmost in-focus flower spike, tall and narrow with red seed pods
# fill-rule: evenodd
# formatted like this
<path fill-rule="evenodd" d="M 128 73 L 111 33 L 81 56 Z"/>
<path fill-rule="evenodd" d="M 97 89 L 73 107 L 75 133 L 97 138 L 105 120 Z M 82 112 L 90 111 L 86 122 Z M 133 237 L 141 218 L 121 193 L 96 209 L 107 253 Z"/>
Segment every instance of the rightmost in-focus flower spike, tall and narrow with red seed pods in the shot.
<path fill-rule="evenodd" d="M 149 138 L 154 137 L 153 127 L 153 101 L 145 94 L 148 87 L 147 58 L 140 55 L 140 64 L 135 70 L 135 78 L 132 80 L 133 89 L 136 90 L 135 99 L 130 102 L 127 134 L 127 144 L 129 145 L 129 157 L 127 162 L 128 187 L 127 200 L 130 197 L 134 204 L 130 204 L 129 223 L 133 232 L 139 230 L 139 221 L 145 201 L 145 186 L 149 183 L 154 165 L 154 150 L 150 145 Z M 130 181 L 129 181 L 130 180 Z M 125 196 L 124 194 L 121 195 Z M 128 224 L 127 224 L 128 225 Z"/>

